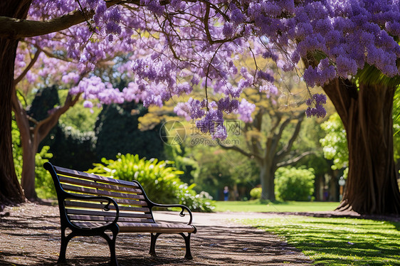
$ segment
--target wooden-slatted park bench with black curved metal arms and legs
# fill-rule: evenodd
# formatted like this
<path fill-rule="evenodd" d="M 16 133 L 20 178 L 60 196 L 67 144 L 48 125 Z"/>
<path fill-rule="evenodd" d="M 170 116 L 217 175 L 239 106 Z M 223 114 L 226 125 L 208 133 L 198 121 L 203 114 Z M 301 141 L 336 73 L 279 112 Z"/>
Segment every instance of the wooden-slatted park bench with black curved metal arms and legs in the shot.
<path fill-rule="evenodd" d="M 61 248 L 58 263 L 66 263 L 65 252 L 68 242 L 75 236 L 98 235 L 107 240 L 110 247 L 112 265 L 118 265 L 115 255 L 115 240 L 118 233 L 150 233 L 149 254 L 155 256 L 158 236 L 164 233 L 177 233 L 184 238 L 187 259 L 191 259 L 190 235 L 196 233 L 191 225 L 189 208 L 179 204 L 157 204 L 147 198 L 139 182 L 123 181 L 95 174 L 88 174 L 50 163 L 44 164 L 56 186 L 58 207 L 60 209 Z M 189 213 L 187 224 L 157 223 L 152 208 L 180 208 Z M 70 233 L 65 235 L 69 228 Z M 112 238 L 106 234 L 112 233 Z M 185 235 L 185 233 L 187 235 Z"/>

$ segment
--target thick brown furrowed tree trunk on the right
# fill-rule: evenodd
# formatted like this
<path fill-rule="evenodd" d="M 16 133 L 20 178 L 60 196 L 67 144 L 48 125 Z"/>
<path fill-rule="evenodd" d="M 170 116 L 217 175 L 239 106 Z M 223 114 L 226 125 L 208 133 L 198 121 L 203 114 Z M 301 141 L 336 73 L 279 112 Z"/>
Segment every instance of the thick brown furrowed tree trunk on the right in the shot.
<path fill-rule="evenodd" d="M 347 131 L 349 176 L 339 210 L 400 213 L 393 154 L 395 87 L 335 80 L 324 90 Z"/>

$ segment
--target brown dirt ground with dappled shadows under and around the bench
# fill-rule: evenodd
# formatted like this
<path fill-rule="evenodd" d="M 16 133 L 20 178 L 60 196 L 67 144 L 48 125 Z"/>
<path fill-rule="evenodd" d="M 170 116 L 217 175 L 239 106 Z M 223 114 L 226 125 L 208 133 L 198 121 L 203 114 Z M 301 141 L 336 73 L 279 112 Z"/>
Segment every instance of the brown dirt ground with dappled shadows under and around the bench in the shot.
<path fill-rule="evenodd" d="M 193 260 L 184 259 L 180 235 L 161 235 L 157 257 L 149 252 L 149 234 L 119 234 L 117 258 L 130 265 L 310 265 L 312 260 L 278 236 L 231 219 L 269 218 L 293 213 L 193 213 L 198 232 L 191 238 Z M 335 213 L 300 213 L 335 216 Z M 171 212 L 157 212 L 156 220 L 178 220 Z M 397 220 L 399 218 L 395 218 Z M 56 265 L 60 249 L 58 207 L 37 203 L 6 207 L 0 212 L 0 265 Z M 68 265 L 108 265 L 110 252 L 100 237 L 73 238 L 67 248 Z"/>

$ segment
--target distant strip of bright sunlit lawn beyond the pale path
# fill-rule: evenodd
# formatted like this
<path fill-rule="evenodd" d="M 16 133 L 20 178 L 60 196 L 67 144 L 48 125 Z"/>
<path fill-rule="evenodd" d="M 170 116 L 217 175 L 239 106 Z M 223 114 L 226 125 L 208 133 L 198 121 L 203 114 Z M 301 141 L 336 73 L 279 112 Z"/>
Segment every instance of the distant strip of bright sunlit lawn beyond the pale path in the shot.
<path fill-rule="evenodd" d="M 339 206 L 338 202 L 287 201 L 216 201 L 216 211 L 232 212 L 310 212 L 332 211 Z"/>

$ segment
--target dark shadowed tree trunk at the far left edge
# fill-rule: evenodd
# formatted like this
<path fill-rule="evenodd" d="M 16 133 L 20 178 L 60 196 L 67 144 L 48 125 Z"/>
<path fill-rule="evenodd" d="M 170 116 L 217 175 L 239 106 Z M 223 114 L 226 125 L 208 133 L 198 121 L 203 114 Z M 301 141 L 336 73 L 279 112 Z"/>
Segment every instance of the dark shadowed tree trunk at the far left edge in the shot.
<path fill-rule="evenodd" d="M 0 1 L 0 16 L 26 18 L 31 0 Z M 11 97 L 14 92 L 14 63 L 18 39 L 0 38 L 0 201 L 23 202 L 11 147 Z"/>

